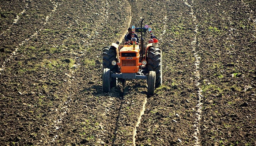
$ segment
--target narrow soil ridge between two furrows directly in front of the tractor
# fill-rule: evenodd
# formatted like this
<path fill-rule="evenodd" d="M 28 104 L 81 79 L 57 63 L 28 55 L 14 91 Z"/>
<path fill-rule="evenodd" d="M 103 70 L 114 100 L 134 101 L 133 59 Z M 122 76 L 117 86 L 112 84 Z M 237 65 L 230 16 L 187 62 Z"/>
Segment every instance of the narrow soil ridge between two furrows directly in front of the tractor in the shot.
<path fill-rule="evenodd" d="M 146 85 L 141 80 L 127 81 L 123 91 L 124 96 L 121 101 L 113 145 L 133 145 L 135 129 L 138 127 L 146 104 L 147 92 L 145 89 Z"/>

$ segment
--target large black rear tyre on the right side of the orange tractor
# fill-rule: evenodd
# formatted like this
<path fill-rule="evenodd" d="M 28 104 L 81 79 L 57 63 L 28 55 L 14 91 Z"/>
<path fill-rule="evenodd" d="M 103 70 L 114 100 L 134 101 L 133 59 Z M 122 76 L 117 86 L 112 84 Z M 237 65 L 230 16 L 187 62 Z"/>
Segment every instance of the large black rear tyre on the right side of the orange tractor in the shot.
<path fill-rule="evenodd" d="M 162 51 L 159 47 L 150 47 L 147 55 L 148 72 L 155 71 L 155 88 L 162 85 Z"/>

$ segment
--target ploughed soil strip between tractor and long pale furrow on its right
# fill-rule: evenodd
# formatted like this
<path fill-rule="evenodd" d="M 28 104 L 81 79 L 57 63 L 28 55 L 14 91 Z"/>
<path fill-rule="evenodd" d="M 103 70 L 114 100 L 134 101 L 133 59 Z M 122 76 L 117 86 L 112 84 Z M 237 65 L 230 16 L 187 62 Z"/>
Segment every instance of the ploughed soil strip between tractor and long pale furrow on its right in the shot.
<path fill-rule="evenodd" d="M 163 14 L 158 14 L 158 5 L 166 6 L 161 8 L 166 10 Z M 153 32 L 157 37 L 163 34 L 163 38 L 159 38 L 163 53 L 163 87 L 148 99 L 136 144 L 188 145 L 193 141 L 192 122 L 196 119 L 194 107 L 197 104 L 192 73 L 195 62 L 191 61 L 194 56 L 192 44 L 188 43 L 194 39 L 190 10 L 179 0 L 157 2 L 151 8 L 151 21 L 157 24 Z"/>

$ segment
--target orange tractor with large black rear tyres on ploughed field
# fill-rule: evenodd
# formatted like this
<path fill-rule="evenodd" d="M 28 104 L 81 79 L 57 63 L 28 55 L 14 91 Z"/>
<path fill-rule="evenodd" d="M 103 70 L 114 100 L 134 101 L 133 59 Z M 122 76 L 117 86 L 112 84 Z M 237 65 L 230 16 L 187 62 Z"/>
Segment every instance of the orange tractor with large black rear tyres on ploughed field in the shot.
<path fill-rule="evenodd" d="M 143 20 L 140 28 L 132 26 L 133 33 L 141 32 L 140 43 L 136 42 L 136 38 L 131 38 L 125 45 L 118 45 L 117 42 L 104 47 L 103 92 L 109 92 L 112 87 L 116 87 L 118 81 L 125 85 L 126 80 L 142 79 L 147 80 L 147 93 L 151 96 L 154 95 L 155 88 L 162 85 L 162 51 L 160 47 L 153 46 L 152 39 L 144 45 L 143 32 L 151 32 L 151 38 L 153 33 L 148 25 L 142 27 Z"/>

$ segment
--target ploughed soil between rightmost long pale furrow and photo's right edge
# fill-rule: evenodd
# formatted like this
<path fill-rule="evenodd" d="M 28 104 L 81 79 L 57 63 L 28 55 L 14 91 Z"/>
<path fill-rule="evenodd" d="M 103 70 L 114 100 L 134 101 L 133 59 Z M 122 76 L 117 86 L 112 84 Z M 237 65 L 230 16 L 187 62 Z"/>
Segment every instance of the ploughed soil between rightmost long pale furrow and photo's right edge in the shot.
<path fill-rule="evenodd" d="M 242 1 L 225 0 L 211 5 L 196 0 L 193 8 L 200 18 L 200 74 L 207 97 L 201 142 L 255 145 L 255 23 L 248 21 L 251 10 Z M 254 88 L 246 91 L 248 86 Z"/>

